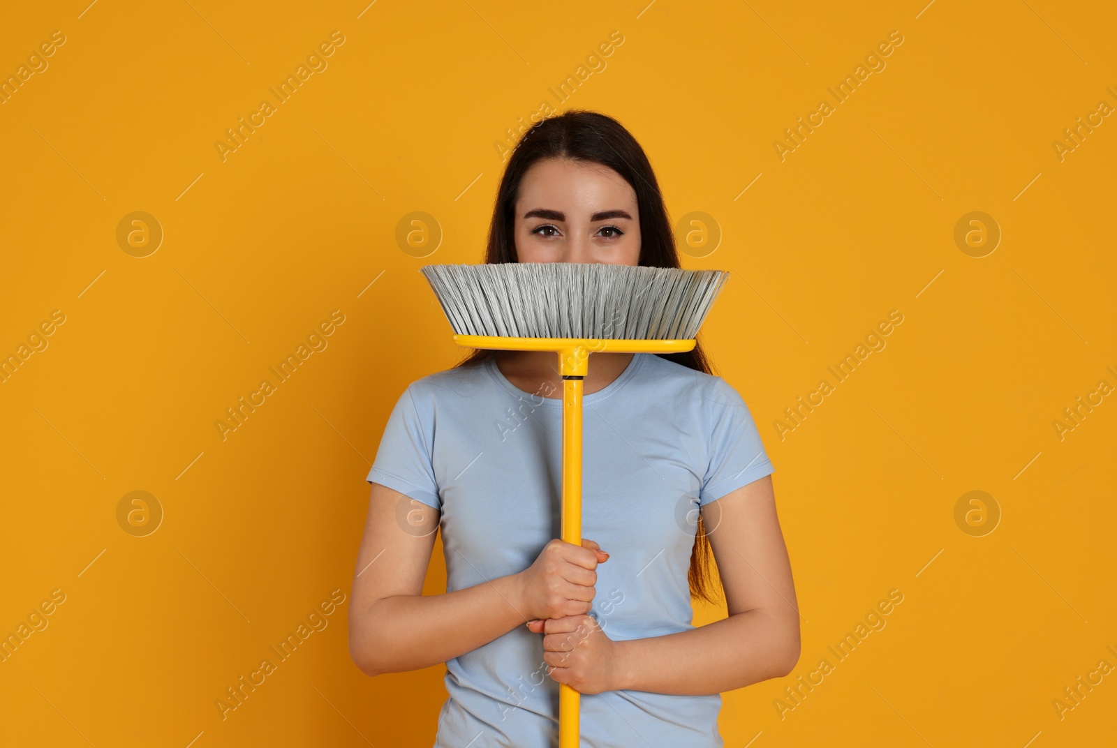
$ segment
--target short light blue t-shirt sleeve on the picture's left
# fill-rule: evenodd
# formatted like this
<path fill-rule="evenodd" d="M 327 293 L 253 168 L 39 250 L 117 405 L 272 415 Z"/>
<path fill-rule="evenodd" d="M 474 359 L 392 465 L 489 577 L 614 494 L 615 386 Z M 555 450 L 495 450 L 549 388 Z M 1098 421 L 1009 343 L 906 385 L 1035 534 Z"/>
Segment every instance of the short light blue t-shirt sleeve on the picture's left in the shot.
<path fill-rule="evenodd" d="M 376 460 L 372 463 L 370 483 L 380 483 L 436 509 L 442 508 L 431 461 L 433 413 L 417 403 L 414 386 L 409 385 L 395 401 L 380 438 Z M 420 415 L 422 413 L 422 415 Z"/>

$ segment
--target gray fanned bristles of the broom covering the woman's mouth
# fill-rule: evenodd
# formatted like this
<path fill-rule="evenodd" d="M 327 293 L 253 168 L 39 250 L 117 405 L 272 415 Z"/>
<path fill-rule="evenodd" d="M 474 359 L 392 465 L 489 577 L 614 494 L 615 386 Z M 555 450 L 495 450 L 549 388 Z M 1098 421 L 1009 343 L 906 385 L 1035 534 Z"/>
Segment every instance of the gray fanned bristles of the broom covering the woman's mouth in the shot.
<path fill-rule="evenodd" d="M 725 270 L 581 262 L 428 265 L 457 335 L 690 339 Z"/>

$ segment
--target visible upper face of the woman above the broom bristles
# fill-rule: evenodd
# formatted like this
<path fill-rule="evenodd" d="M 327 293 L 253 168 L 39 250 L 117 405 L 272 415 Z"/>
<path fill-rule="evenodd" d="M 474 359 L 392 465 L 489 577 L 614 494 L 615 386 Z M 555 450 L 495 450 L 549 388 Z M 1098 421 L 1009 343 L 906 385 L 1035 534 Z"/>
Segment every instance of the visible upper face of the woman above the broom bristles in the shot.
<path fill-rule="evenodd" d="M 521 262 L 637 265 L 636 191 L 598 163 L 537 161 L 519 182 L 514 236 Z"/>

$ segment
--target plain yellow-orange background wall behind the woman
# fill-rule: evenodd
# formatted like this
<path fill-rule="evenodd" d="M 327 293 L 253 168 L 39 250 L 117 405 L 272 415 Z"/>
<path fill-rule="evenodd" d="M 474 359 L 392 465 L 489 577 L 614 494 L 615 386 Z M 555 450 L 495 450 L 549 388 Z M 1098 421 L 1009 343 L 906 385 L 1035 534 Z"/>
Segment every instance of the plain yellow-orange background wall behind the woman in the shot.
<path fill-rule="evenodd" d="M 1114 672 L 1052 704 L 1117 667 L 1115 396 L 1052 424 L 1117 385 L 1117 118 L 1052 145 L 1117 106 L 1110 3 L 77 0 L 4 20 L 4 78 L 66 42 L 0 104 L 0 354 L 66 320 L 0 384 L 0 633 L 66 600 L 0 663 L 0 744 L 431 745 L 443 667 L 369 679 L 349 659 L 364 478 L 402 389 L 461 353 L 418 269 L 480 261 L 498 144 L 543 102 L 618 117 L 672 221 L 722 232 L 685 267 L 733 272 L 704 344 L 776 467 L 803 618 L 791 677 L 725 694 L 726 745 L 1111 742 Z M 335 30 L 326 69 L 222 160 Z M 781 161 L 784 128 L 894 30 L 885 69 Z M 144 258 L 116 239 L 133 211 L 164 233 Z M 426 258 L 397 241 L 413 211 L 442 234 Z M 982 258 L 954 240 L 971 211 L 1003 234 Z M 334 309 L 328 347 L 222 440 Z M 781 439 L 892 309 L 887 347 Z M 145 537 L 117 521 L 135 490 L 164 515 Z M 1001 512 L 980 537 L 955 521 L 972 490 Z M 439 545 L 427 592 L 443 583 Z M 328 626 L 222 719 L 214 700 L 334 589 Z M 890 589 L 887 625 L 781 718 Z"/>

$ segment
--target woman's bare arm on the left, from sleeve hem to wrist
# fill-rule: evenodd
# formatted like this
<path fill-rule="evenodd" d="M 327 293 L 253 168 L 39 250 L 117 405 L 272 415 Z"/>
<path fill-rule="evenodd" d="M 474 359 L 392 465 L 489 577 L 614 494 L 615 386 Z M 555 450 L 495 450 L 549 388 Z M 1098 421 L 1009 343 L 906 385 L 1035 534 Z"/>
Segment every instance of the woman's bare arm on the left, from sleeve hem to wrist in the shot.
<path fill-rule="evenodd" d="M 400 501 L 405 520 L 397 514 Z M 517 575 L 422 594 L 438 520 L 438 509 L 372 485 L 349 611 L 350 656 L 367 675 L 446 662 L 531 617 L 521 613 Z"/>

